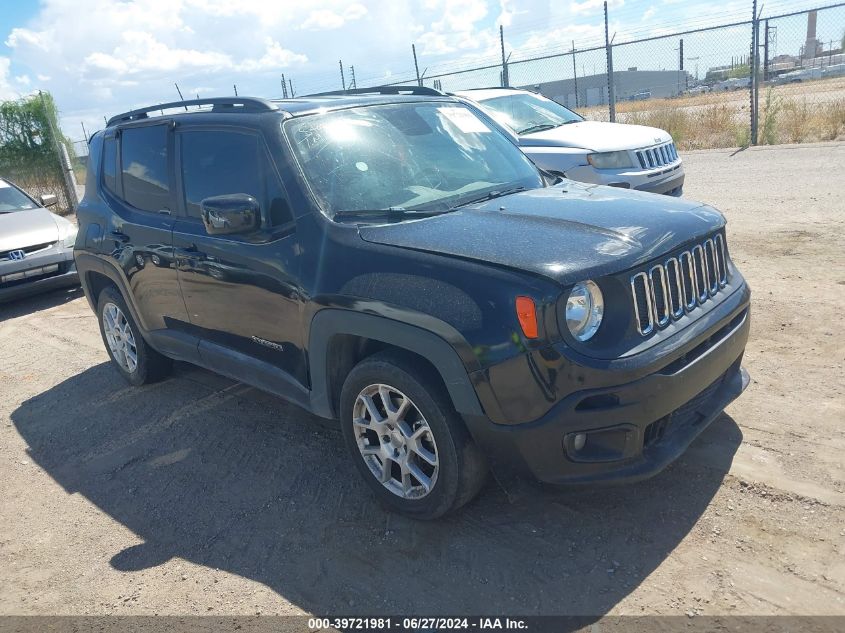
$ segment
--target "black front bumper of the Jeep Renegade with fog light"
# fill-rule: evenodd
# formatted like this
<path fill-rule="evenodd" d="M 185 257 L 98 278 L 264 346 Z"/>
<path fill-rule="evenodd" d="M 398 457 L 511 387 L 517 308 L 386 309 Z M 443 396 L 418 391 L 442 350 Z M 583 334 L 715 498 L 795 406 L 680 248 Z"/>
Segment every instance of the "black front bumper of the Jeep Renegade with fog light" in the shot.
<path fill-rule="evenodd" d="M 747 289 L 746 289 L 747 296 Z M 553 484 L 637 481 L 677 459 L 748 386 L 742 355 L 748 302 L 654 370 L 614 372 L 611 386 L 571 393 L 544 416 L 517 425 L 465 416 L 498 475 Z M 611 370 L 608 370 L 611 371 Z M 576 450 L 576 436 L 586 442 Z"/>

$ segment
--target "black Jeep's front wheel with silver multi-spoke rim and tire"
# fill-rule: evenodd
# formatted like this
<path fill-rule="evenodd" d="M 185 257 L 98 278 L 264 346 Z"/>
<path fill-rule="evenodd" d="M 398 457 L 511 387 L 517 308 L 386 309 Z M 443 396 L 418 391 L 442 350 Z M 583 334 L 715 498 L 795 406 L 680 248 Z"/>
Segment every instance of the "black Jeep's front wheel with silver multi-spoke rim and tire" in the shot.
<path fill-rule="evenodd" d="M 355 465 L 378 500 L 417 519 L 470 501 L 487 464 L 445 389 L 413 357 L 382 352 L 356 365 L 340 397 Z"/>

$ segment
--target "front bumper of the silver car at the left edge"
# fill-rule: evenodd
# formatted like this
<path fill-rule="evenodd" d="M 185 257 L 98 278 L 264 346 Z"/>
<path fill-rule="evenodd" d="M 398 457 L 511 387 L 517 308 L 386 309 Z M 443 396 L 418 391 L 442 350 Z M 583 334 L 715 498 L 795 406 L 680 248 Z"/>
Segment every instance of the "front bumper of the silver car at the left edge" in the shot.
<path fill-rule="evenodd" d="M 0 303 L 78 284 L 73 250 L 59 244 L 21 261 L 0 263 Z"/>

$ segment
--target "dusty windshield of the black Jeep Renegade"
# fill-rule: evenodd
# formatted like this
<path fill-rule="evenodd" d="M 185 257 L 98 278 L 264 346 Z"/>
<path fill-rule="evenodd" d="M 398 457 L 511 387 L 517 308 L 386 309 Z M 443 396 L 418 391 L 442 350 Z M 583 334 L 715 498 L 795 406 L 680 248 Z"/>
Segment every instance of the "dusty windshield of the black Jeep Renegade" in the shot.
<path fill-rule="evenodd" d="M 493 192 L 543 186 L 513 143 L 457 103 L 351 108 L 291 119 L 284 129 L 331 216 L 442 211 Z"/>

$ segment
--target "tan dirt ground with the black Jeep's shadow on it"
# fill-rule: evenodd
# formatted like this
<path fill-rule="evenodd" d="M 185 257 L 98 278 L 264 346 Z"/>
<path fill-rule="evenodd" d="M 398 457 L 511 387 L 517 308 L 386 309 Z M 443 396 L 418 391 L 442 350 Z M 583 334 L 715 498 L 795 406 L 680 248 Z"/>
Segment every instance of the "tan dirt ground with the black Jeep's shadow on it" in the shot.
<path fill-rule="evenodd" d="M 684 158 L 753 381 L 637 485 L 406 520 L 293 406 L 187 365 L 128 387 L 78 291 L 0 308 L 0 614 L 845 614 L 845 144 Z"/>

